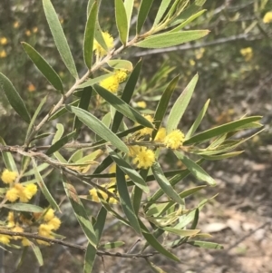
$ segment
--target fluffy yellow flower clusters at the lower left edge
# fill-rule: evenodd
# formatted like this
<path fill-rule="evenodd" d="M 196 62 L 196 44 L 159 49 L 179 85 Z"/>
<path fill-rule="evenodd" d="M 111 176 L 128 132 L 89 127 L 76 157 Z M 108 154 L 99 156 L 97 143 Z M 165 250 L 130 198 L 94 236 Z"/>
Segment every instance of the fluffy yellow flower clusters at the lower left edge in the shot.
<path fill-rule="evenodd" d="M 21 202 L 28 202 L 33 198 L 37 192 L 37 186 L 34 183 L 26 184 L 25 186 L 17 181 L 18 173 L 15 171 L 6 170 L 2 172 L 1 180 L 7 185 L 9 189 L 5 192 L 5 200 L 15 202 L 19 200 Z M 9 229 L 14 232 L 24 232 L 25 228 L 37 226 L 38 235 L 45 238 L 53 239 L 53 230 L 59 229 L 61 220 L 54 216 L 53 209 L 46 209 L 44 212 L 32 213 L 26 218 L 21 212 L 9 211 L 6 219 L 6 225 L 1 229 Z M 0 231 L 1 233 L 1 231 Z M 22 239 L 23 246 L 29 246 L 31 241 L 22 236 L 9 236 L 0 234 L 0 242 L 8 245 L 11 239 Z M 50 245 L 43 240 L 36 240 L 39 244 Z"/>

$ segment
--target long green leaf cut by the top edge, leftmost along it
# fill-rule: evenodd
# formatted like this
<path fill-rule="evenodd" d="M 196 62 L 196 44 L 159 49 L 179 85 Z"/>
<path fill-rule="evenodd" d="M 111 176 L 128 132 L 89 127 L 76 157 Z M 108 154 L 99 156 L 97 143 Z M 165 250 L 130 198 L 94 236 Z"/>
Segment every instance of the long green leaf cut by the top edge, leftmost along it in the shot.
<path fill-rule="evenodd" d="M 73 62 L 73 56 L 71 54 L 69 45 L 63 33 L 62 24 L 59 21 L 58 15 L 56 14 L 53 5 L 50 0 L 43 0 L 44 14 L 49 24 L 49 28 L 53 35 L 54 43 L 62 56 L 63 63 L 73 75 L 75 79 L 78 79 L 75 64 Z"/>

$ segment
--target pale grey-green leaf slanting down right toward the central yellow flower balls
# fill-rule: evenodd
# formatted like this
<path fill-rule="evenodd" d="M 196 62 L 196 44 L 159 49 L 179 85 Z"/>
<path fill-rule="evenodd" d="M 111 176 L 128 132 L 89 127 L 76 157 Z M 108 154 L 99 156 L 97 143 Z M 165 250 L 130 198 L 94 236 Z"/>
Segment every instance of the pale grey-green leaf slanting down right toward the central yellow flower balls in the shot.
<path fill-rule="evenodd" d="M 102 139 L 112 143 L 120 151 L 129 152 L 128 147 L 109 129 L 107 128 L 98 118 L 83 109 L 66 106 L 70 112 L 73 112 L 80 121 L 82 121 L 87 127 L 93 132 L 97 133 Z"/>

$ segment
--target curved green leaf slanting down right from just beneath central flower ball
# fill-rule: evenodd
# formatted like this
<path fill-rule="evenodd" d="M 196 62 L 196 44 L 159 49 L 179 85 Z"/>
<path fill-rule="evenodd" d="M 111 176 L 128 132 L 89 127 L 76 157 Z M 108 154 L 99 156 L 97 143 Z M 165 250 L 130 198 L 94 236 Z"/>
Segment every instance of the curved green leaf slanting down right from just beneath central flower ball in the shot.
<path fill-rule="evenodd" d="M 167 180 L 167 178 L 163 174 L 163 171 L 160 168 L 160 164 L 158 162 L 155 162 L 152 165 L 151 170 L 154 174 L 155 179 L 160 185 L 161 190 L 163 190 L 165 194 L 170 197 L 171 200 L 175 200 L 180 205 L 184 205 L 184 200 L 182 200 L 179 194 L 172 188 L 170 181 Z"/>

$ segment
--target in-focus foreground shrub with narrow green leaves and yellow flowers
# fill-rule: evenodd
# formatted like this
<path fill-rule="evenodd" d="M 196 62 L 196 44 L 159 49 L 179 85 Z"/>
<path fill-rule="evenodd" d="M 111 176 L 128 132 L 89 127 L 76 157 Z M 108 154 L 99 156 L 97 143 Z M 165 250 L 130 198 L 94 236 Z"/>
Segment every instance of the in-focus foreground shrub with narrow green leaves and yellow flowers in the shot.
<path fill-rule="evenodd" d="M 261 117 L 243 116 L 238 121 L 196 133 L 208 109 L 208 100 L 189 131 L 181 132 L 178 126 L 198 83 L 197 74 L 171 107 L 170 98 L 179 75 L 165 86 L 153 115 L 141 114 L 131 107 L 131 99 L 137 95 L 134 91 L 142 62 L 139 60 L 133 65 L 121 59 L 127 48 L 161 49 L 209 34 L 208 30 L 184 30 L 203 14 L 201 6 L 205 1 L 200 0 L 192 4 L 184 0 L 162 0 L 151 29 L 143 31 L 152 3 L 151 0 L 141 1 L 136 28 L 131 29 L 134 1 L 115 0 L 119 37 L 112 37 L 99 24 L 101 1 L 90 0 L 83 37 L 83 60 L 87 72 L 79 76 L 58 15 L 50 0 L 43 0 L 55 46 L 74 83 L 70 88 L 64 87 L 60 75 L 44 57 L 30 44 L 22 43 L 25 53 L 51 84 L 54 90 L 51 92 L 59 94 L 56 102 L 49 100 L 50 93 L 41 99 L 33 116 L 13 83 L 0 73 L 1 89 L 8 102 L 28 124 L 24 144 L 9 146 L 5 143 L 7 140 L 1 139 L 0 150 L 6 169 L 1 176 L 4 183 L 0 194 L 1 207 L 5 208 L 6 214 L 5 219 L 1 219 L 0 242 L 14 248 L 31 247 L 40 265 L 43 265 L 43 258 L 39 246 L 53 243 L 85 250 L 84 272 L 92 271 L 96 256 L 144 258 L 147 265 L 159 272 L 160 268 L 149 260 L 154 255 L 179 261 L 173 249 L 184 244 L 206 249 L 222 248 L 217 243 L 203 240 L 209 235 L 197 229 L 199 210 L 209 200 L 199 200 L 199 205 L 190 210 L 186 208 L 185 200 L 207 186 L 216 186 L 215 180 L 201 168 L 201 163 L 241 153 L 236 149 L 248 139 L 231 137 L 242 130 L 260 128 Z M 46 103 L 51 103 L 50 111 L 41 117 Z M 145 108 L 144 103 L 141 102 L 140 108 Z M 47 124 L 64 114 L 73 122 L 68 126 L 57 123 L 51 145 L 40 145 L 41 140 L 51 137 L 51 132 L 44 130 L 50 127 Z M 89 129 L 91 141 L 83 141 L 83 126 Z M 165 149 L 182 163 L 181 168 L 163 171 L 160 152 Z M 14 154 L 20 156 L 20 167 L 15 163 Z M 46 186 L 46 177 L 53 169 L 62 176 L 63 189 L 88 239 L 86 248 L 55 233 L 61 225 L 55 216 L 56 211 L 61 211 L 60 204 L 55 193 Z M 179 183 L 189 174 L 203 184 L 180 192 Z M 98 180 L 103 182 L 98 183 Z M 156 192 L 150 189 L 153 180 L 159 186 Z M 75 181 L 83 183 L 84 195 L 77 193 Z M 38 189 L 48 201 L 46 208 L 34 204 Z M 87 213 L 89 210 L 82 199 L 100 206 L 96 216 Z M 133 229 L 145 241 L 140 252 L 114 252 L 115 248 L 122 247 L 121 240 L 101 243 L 109 216 Z M 160 242 L 162 237 L 163 243 Z M 152 250 L 147 250 L 148 247 Z"/>

